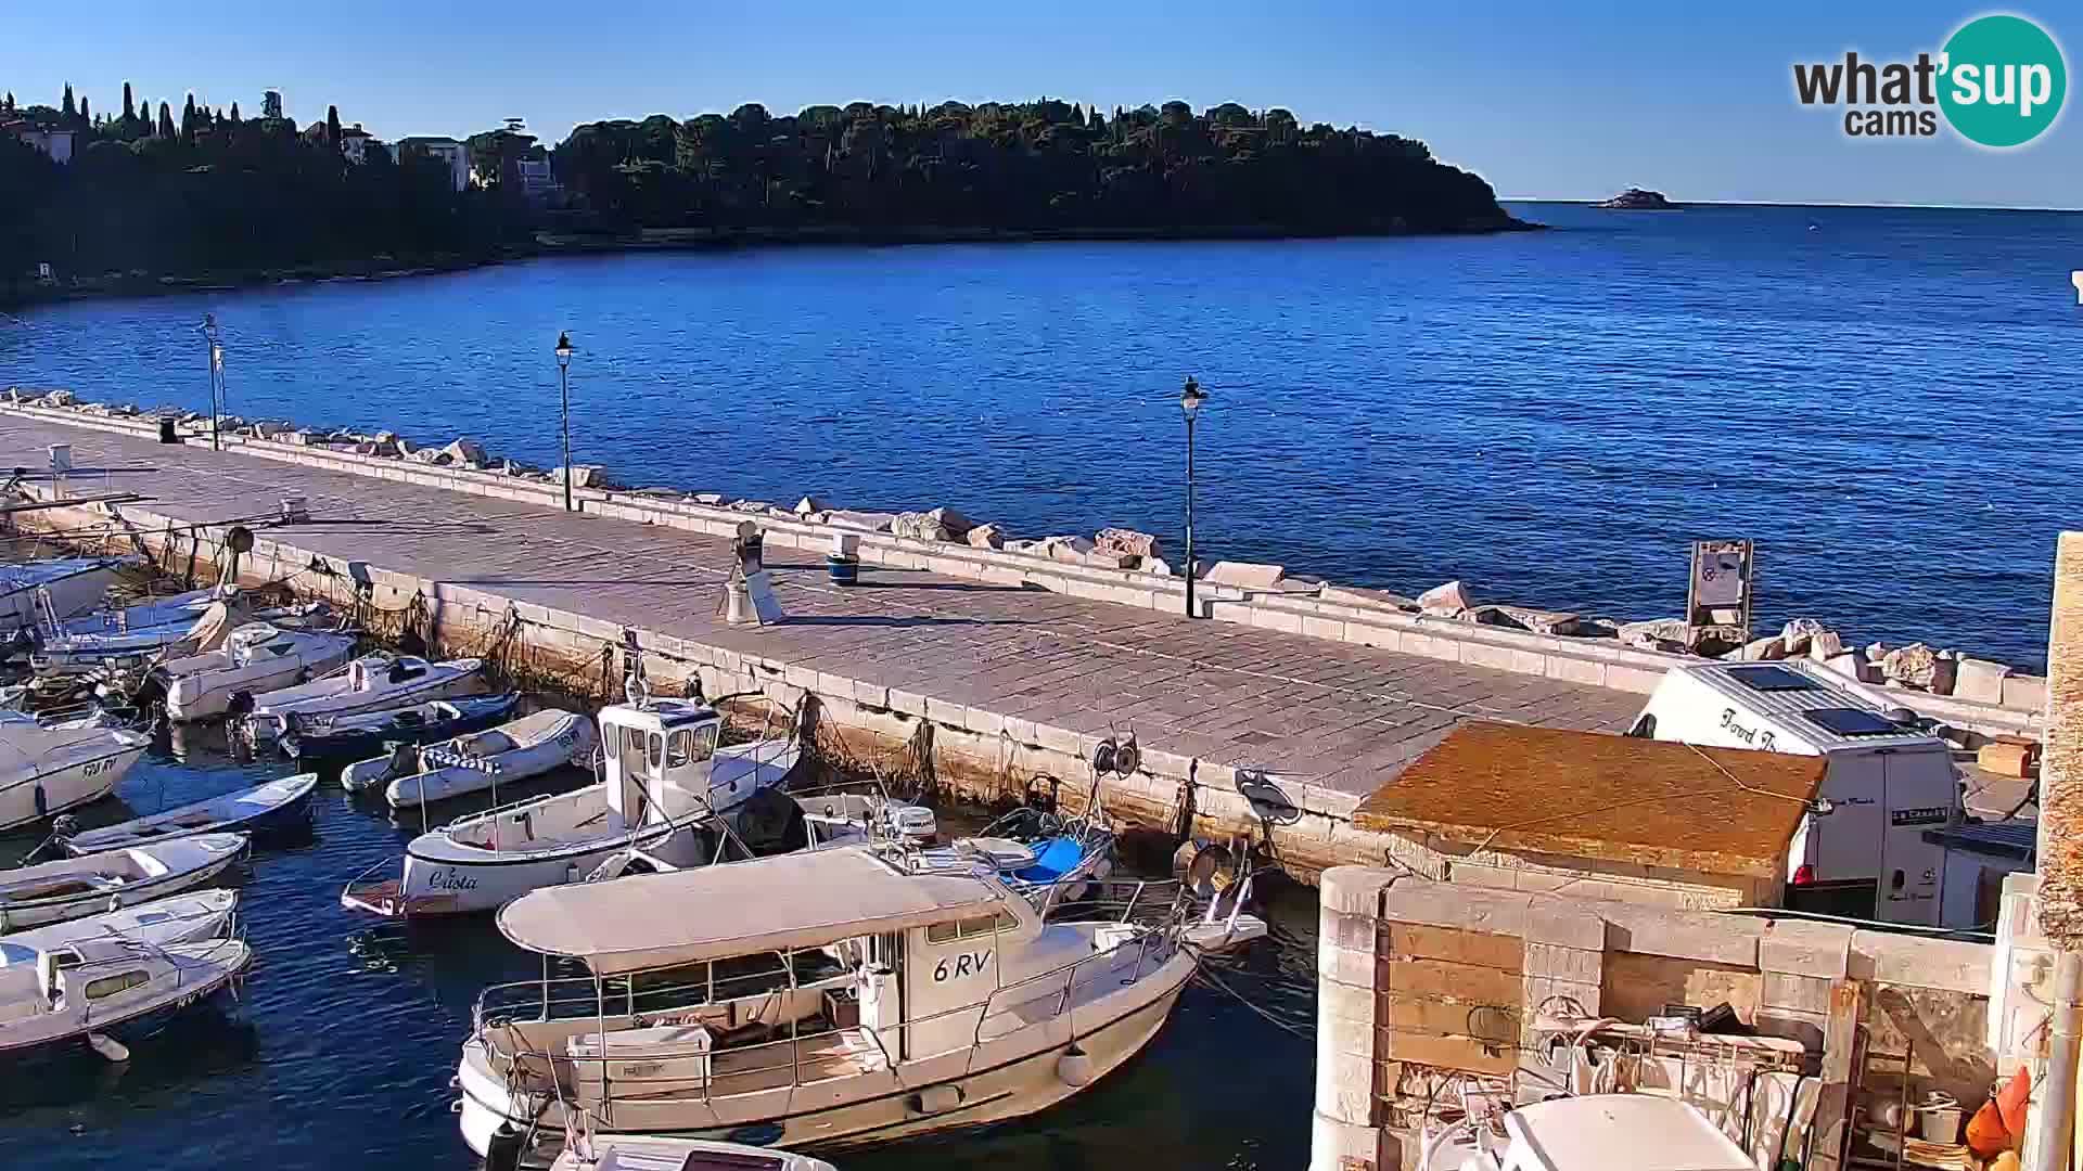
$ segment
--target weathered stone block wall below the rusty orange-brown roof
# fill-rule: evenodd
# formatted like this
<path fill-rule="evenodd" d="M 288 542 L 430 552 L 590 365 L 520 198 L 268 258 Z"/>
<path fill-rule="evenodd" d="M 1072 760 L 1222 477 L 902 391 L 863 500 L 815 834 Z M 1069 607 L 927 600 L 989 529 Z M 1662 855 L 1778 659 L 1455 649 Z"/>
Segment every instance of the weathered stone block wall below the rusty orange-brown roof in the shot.
<path fill-rule="evenodd" d="M 1568 1017 L 1641 1023 L 1666 1004 L 1727 1002 L 1779 1038 L 1743 1044 L 1777 1046 L 1775 1061 L 1804 1071 L 1775 1075 L 1791 1092 L 1798 1077 L 1821 1079 L 1818 1133 L 1841 1131 L 1831 1119 L 1848 1119 L 1862 1094 L 1900 1092 L 1904 1069 L 1912 1094 L 1946 1090 L 1971 1111 L 1998 1067 L 2008 1073 L 1987 1048 L 1993 948 L 1983 944 L 1471 890 L 1371 867 L 1327 871 L 1321 898 L 1314 1171 L 1412 1167 L 1427 1113 L 1460 1079 L 1519 1102 L 1552 1094 L 1556 1058 L 1535 1044 L 1548 1036 L 1537 1025 Z M 1668 1092 L 1723 1119 L 1752 1090 L 1693 1067 Z"/>

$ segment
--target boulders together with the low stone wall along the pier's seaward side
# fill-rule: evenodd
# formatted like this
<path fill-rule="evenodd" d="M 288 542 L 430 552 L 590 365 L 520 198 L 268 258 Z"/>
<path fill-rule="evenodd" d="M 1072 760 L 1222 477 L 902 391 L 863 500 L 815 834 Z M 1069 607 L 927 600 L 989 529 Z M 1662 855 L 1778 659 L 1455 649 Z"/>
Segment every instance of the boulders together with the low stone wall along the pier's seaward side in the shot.
<path fill-rule="evenodd" d="M 81 417 L 131 417 L 131 425 L 144 423 L 135 417 L 167 415 L 79 402 L 67 390 L 8 388 L 0 392 L 0 400 Z M 208 433 L 206 415 L 173 413 L 173 419 L 183 435 Z M 460 435 L 444 444 L 419 444 L 387 429 L 327 431 L 233 417 L 225 417 L 221 425 L 223 433 L 256 442 L 258 448 L 283 444 L 319 458 L 377 460 L 362 467 L 394 465 L 396 471 L 383 475 L 425 469 L 444 477 L 446 485 L 469 492 L 542 498 L 564 477 L 564 469 L 535 469 L 502 458 Z M 875 565 L 931 569 L 1137 606 L 1183 604 L 1179 577 L 1185 567 L 1173 560 L 1158 535 L 1135 529 L 1031 538 L 950 506 L 885 513 L 846 508 L 814 494 L 783 504 L 721 492 L 625 488 L 600 465 L 575 465 L 569 475 L 573 490 L 583 496 L 581 504 L 600 515 L 702 531 L 725 531 L 752 519 L 769 527 L 769 544 L 781 540 L 783 546 L 810 548 L 835 540 L 837 552 L 852 538 L 860 556 Z M 1800 656 L 1879 694 L 1900 694 L 1904 706 L 1954 723 L 1981 723 L 1991 731 L 2029 727 L 2046 711 L 2043 677 L 1927 644 L 1860 646 L 1814 619 L 1796 619 L 1779 631 L 1741 640 L 1729 627 L 1687 627 L 1683 619 L 1627 621 L 1494 602 L 1464 581 L 1406 596 L 1337 586 L 1289 573 L 1283 565 L 1246 560 L 1198 560 L 1194 575 L 1202 617 L 1618 690 L 1648 692 L 1666 667 L 1683 661 Z"/>

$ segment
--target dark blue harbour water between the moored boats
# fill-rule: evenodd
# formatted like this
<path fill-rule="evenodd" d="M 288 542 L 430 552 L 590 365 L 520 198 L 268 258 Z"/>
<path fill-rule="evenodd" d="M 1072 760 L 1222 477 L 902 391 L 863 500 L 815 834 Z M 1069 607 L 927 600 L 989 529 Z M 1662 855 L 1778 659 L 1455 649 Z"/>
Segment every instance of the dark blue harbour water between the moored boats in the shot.
<path fill-rule="evenodd" d="M 81 817 L 104 825 L 287 773 L 240 758 L 219 729 L 160 738 L 123 779 L 119 802 Z M 581 783 L 583 775 L 504 790 Z M 435 819 L 490 804 L 437 808 Z M 331 777 L 315 796 L 308 842 L 260 850 L 237 875 L 240 917 L 256 961 L 235 1021 L 190 1017 L 140 1044 L 127 1067 L 92 1054 L 37 1077 L 0 1079 L 0 1167 L 152 1171 L 465 1169 L 450 1115 L 458 1044 L 487 983 L 531 979 L 539 958 L 508 946 L 490 919 L 385 925 L 340 906 L 340 888 L 402 850 L 419 817 L 394 825 L 377 800 L 350 800 Z M 12 863 L 37 833 L 0 838 Z M 1314 1015 L 1314 896 L 1271 900 L 1273 940 L 1223 961 L 1221 977 L 1266 1013 L 1306 1027 Z M 356 940 L 369 940 L 354 946 Z M 1039 1117 L 846 1152 L 848 1171 L 983 1165 L 1004 1171 L 1266 1167 L 1306 1161 L 1312 1048 L 1210 986 L 1135 1063 Z"/>

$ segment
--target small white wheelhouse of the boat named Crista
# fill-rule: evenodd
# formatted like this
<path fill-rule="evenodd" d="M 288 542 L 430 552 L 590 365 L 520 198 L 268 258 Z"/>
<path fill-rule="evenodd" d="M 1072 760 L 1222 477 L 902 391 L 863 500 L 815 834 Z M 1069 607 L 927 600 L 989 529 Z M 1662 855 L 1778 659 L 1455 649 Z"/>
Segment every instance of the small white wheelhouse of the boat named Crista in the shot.
<path fill-rule="evenodd" d="M 706 819 L 712 804 L 708 771 L 721 733 L 723 717 L 702 700 L 608 704 L 600 711 L 608 808 L 631 827 Z"/>

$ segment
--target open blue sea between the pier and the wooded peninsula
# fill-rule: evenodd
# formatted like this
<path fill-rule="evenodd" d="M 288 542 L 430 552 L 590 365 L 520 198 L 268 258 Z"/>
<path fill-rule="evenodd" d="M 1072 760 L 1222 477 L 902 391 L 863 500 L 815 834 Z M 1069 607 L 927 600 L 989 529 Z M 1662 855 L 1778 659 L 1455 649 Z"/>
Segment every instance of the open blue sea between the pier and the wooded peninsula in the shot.
<path fill-rule="evenodd" d="M 2043 661 L 2054 533 L 2083 523 L 2083 217 L 1514 210 L 1556 231 L 673 252 L 85 302 L 0 323 L 0 383 L 206 404 L 215 310 L 242 415 L 550 465 L 569 329 L 579 458 L 625 479 L 1177 535 L 1191 373 L 1208 554 L 1668 617 L 1687 542 L 1748 535 L 1768 621 Z"/>

